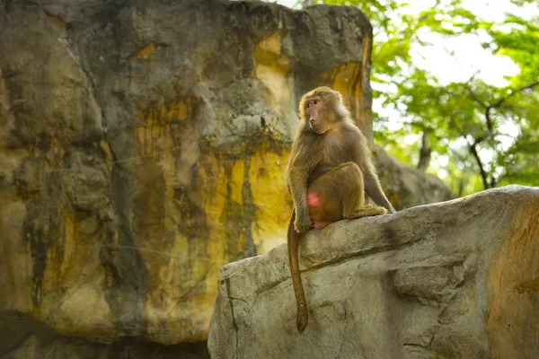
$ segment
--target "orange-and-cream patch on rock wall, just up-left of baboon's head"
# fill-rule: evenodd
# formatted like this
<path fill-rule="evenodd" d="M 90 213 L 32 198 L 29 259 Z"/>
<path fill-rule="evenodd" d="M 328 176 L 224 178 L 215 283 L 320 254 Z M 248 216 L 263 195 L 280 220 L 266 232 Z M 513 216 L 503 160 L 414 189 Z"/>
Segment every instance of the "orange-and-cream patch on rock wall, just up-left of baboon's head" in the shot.
<path fill-rule="evenodd" d="M 290 60 L 281 48 L 280 32 L 262 39 L 254 48 L 256 77 L 270 90 L 273 97 L 270 104 L 278 111 L 282 111 L 280 107 L 283 101 L 290 101 L 292 98 L 287 78 Z"/>

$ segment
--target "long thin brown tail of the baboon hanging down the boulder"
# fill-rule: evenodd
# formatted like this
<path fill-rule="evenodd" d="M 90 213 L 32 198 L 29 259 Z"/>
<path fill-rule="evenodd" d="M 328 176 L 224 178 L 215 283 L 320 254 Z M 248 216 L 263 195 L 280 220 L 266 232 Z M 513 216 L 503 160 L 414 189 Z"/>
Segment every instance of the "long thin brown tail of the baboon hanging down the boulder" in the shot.
<path fill-rule="evenodd" d="M 296 220 L 296 212 L 292 210 L 290 223 L 288 223 L 288 266 L 290 267 L 290 276 L 292 277 L 292 285 L 294 286 L 294 294 L 296 295 L 297 306 L 297 330 L 303 333 L 307 326 L 308 313 L 307 302 L 305 301 L 305 293 L 301 284 L 301 276 L 299 274 L 299 259 L 298 259 L 298 242 L 299 233 L 294 229 L 294 221 Z"/>

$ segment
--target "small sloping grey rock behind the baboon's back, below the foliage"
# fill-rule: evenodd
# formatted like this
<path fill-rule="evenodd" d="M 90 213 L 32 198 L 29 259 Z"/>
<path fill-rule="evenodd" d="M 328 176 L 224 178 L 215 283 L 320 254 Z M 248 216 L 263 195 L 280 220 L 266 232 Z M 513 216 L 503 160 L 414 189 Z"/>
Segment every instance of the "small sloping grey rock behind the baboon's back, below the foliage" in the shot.
<path fill-rule="evenodd" d="M 457 197 L 436 176 L 413 169 L 394 159 L 378 145 L 375 145 L 373 150 L 382 188 L 397 210 Z"/>

